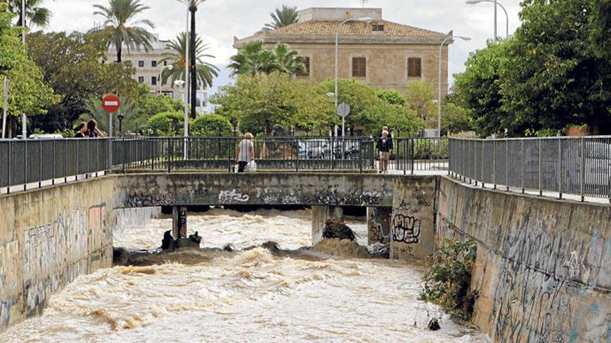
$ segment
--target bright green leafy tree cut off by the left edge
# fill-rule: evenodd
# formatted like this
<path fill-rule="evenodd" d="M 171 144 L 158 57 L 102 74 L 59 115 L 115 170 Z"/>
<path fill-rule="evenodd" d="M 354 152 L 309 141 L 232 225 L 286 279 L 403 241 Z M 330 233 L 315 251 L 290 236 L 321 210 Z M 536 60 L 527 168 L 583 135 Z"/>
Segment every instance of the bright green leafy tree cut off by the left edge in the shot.
<path fill-rule="evenodd" d="M 18 38 L 19 30 L 11 27 L 13 15 L 6 12 L 7 8 L 7 3 L 0 3 L 0 82 L 4 76 L 10 79 L 7 112 L 9 118 L 22 112 L 34 118 L 47 113 L 45 107 L 56 103 L 58 96 L 44 84 L 40 69 L 25 53 Z M 3 99 L 0 106 L 3 106 Z"/>

